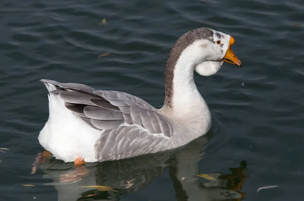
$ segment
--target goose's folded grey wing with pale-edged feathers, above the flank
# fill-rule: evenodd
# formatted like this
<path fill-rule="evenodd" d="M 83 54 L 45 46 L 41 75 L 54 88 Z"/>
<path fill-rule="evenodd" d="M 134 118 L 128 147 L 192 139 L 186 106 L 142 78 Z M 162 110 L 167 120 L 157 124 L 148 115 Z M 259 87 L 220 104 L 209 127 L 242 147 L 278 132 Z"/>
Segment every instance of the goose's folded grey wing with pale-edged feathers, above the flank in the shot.
<path fill-rule="evenodd" d="M 67 109 L 100 130 L 119 129 L 123 123 L 143 127 L 151 134 L 171 136 L 171 125 L 144 100 L 124 92 L 96 90 L 76 83 L 42 80 L 50 93 L 59 95 Z M 108 131 L 107 131 L 108 132 Z M 163 136 L 164 137 L 164 136 Z"/>

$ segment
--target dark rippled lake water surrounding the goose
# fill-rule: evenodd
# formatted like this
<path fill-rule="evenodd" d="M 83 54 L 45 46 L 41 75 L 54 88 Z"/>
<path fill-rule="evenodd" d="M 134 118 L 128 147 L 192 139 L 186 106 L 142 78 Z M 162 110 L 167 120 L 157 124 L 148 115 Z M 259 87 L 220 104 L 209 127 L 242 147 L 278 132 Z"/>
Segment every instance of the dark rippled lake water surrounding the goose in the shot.
<path fill-rule="evenodd" d="M 51 158 L 30 174 L 48 118 L 41 78 L 161 107 L 170 48 L 202 26 L 232 35 L 243 63 L 195 73 L 213 117 L 206 136 L 86 169 Z M 299 0 L 2 1 L 0 200 L 302 200 L 303 33 Z M 77 179 L 60 182 L 68 175 Z M 111 189 L 80 187 L 91 185 Z"/>

